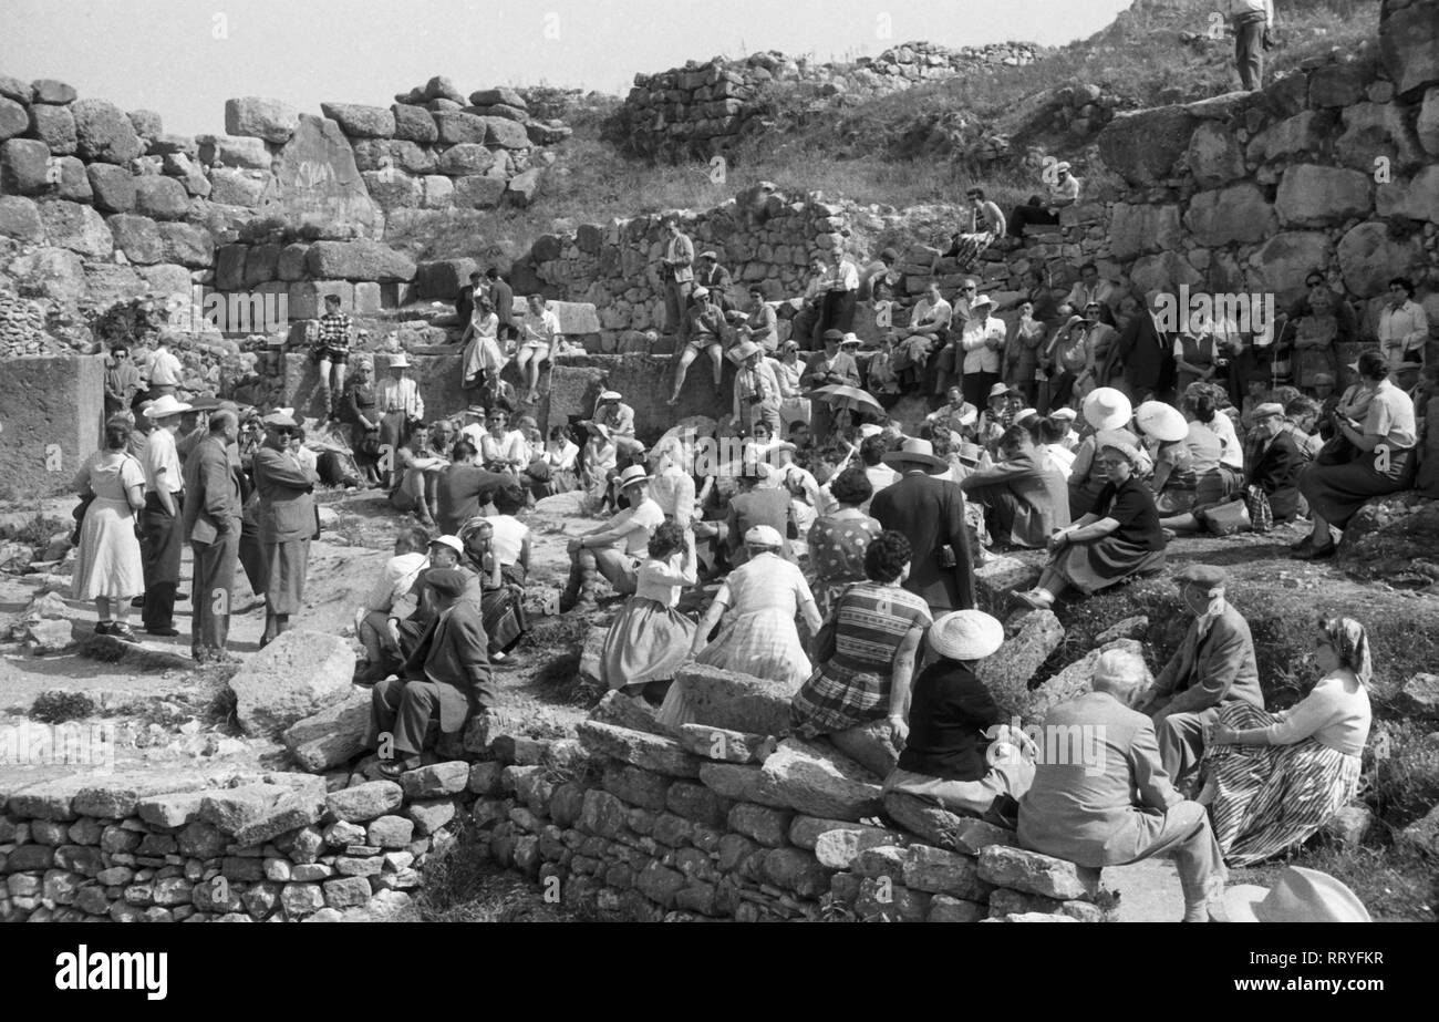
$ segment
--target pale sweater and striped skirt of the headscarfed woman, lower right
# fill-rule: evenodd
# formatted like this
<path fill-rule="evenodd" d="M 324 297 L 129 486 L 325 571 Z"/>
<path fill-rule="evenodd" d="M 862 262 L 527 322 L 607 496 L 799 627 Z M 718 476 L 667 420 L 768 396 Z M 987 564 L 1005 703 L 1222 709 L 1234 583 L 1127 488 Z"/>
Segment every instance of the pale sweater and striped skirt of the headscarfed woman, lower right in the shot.
<path fill-rule="evenodd" d="M 1209 813 L 1229 865 L 1253 865 L 1297 848 L 1354 799 L 1368 737 L 1368 694 L 1360 685 L 1345 695 L 1343 685 L 1341 678 L 1325 678 L 1284 714 L 1248 702 L 1220 710 L 1225 727 L 1263 727 L 1292 743 L 1204 750 L 1204 777 L 1215 793 Z M 1294 740 L 1295 730 L 1311 727 Z"/>

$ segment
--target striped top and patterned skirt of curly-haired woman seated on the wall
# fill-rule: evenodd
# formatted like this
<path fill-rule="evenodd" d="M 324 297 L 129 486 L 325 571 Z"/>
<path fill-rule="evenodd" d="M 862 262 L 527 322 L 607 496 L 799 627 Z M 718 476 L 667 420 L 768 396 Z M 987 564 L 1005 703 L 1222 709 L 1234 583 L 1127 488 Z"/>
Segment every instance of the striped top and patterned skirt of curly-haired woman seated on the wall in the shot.
<path fill-rule="evenodd" d="M 835 606 L 835 655 L 790 704 L 794 731 L 812 738 L 882 720 L 899 643 L 930 623 L 930 605 L 907 589 L 862 582 L 846 590 Z"/>

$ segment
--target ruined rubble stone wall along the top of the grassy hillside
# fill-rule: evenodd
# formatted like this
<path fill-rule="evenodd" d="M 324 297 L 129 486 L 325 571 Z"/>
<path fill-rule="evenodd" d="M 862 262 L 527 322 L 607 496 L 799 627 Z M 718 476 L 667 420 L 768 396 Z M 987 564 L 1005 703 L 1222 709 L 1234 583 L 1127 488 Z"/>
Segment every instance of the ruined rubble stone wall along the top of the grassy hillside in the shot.
<path fill-rule="evenodd" d="M 691 60 L 635 85 L 612 122 L 617 140 L 637 155 L 681 161 L 728 153 L 747 135 L 764 131 L 774 94 L 794 86 L 814 98 L 876 95 L 920 82 L 990 68 L 1019 66 L 1040 56 L 1032 43 L 996 43 L 948 49 L 912 42 L 853 63 L 814 63 L 783 53 L 754 53 L 741 60 Z"/>

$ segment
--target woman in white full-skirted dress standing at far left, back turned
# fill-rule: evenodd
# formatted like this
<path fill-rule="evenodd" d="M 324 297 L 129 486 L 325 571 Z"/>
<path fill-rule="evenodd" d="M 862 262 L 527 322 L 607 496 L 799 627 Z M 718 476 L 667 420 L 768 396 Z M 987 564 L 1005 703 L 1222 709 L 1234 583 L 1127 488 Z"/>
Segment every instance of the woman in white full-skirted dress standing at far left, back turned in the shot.
<path fill-rule="evenodd" d="M 95 635 L 138 642 L 130 629 L 130 602 L 145 592 L 144 561 L 135 537 L 135 514 L 145 507 L 145 474 L 125 453 L 130 423 L 105 423 L 105 449 L 96 451 L 75 474 L 75 489 L 94 499 L 81 524 L 71 599 L 95 600 Z"/>

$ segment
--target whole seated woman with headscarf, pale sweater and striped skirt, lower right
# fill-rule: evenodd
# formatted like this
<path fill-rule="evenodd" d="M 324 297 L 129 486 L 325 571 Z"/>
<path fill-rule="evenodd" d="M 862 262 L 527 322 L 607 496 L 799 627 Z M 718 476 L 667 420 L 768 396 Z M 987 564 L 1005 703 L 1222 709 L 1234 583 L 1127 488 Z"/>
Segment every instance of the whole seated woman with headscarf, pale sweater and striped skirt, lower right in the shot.
<path fill-rule="evenodd" d="M 1298 704 L 1271 714 L 1232 702 L 1209 734 L 1199 800 L 1230 865 L 1299 845 L 1354 799 L 1374 677 L 1364 626 L 1320 618 L 1314 658 L 1321 678 Z"/>

